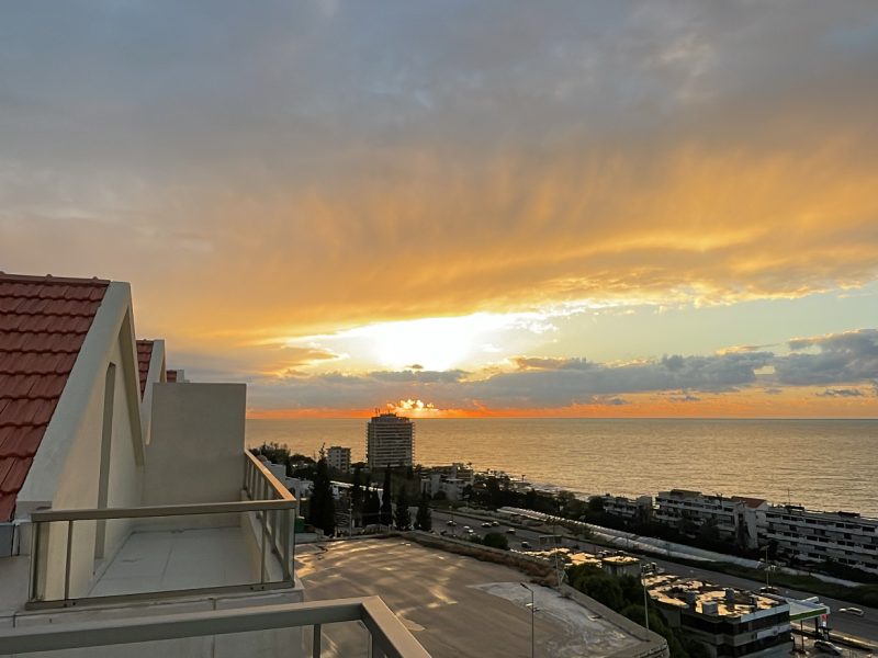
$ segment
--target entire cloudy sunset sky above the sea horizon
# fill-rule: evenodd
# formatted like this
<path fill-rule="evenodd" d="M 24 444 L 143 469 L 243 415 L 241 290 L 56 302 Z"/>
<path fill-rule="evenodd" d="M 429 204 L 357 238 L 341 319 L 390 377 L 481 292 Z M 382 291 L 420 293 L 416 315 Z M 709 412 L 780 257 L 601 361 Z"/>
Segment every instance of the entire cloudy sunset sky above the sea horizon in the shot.
<path fill-rule="evenodd" d="M 878 5 L 0 3 L 0 270 L 248 413 L 878 417 Z"/>

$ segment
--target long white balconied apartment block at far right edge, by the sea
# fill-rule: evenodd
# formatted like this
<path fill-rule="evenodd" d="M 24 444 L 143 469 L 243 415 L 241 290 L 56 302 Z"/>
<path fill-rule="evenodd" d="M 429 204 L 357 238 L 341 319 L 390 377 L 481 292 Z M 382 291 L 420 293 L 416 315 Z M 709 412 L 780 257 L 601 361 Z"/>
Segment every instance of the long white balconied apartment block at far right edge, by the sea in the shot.
<path fill-rule="evenodd" d="M 820 512 L 800 506 L 770 506 L 762 527 L 765 544 L 799 560 L 834 560 L 878 572 L 878 519 L 856 512 Z"/>

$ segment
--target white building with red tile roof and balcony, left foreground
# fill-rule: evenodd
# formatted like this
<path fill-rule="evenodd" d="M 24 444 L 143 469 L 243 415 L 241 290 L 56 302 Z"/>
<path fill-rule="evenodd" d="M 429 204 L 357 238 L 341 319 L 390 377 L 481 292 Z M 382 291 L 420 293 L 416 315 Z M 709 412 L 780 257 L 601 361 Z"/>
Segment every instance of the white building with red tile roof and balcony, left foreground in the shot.
<path fill-rule="evenodd" d="M 0 655 L 304 655 L 367 621 L 426 656 L 378 599 L 302 602 L 246 386 L 168 382 L 127 284 L 0 274 Z"/>

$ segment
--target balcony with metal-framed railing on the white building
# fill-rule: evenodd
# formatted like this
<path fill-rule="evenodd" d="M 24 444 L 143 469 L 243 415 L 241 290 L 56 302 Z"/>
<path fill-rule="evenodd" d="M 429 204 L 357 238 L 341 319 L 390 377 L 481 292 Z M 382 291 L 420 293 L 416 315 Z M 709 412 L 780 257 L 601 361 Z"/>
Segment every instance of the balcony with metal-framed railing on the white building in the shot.
<path fill-rule="evenodd" d="M 233 502 L 31 515 L 29 610 L 293 588 L 293 496 L 250 453 Z M 94 559 L 97 537 L 116 546 Z"/>

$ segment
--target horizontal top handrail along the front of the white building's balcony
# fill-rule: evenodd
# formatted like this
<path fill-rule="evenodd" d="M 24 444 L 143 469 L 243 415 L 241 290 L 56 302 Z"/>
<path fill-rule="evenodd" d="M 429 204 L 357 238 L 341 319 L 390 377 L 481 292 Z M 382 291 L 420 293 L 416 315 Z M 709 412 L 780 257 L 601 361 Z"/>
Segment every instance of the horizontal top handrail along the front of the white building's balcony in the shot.
<path fill-rule="evenodd" d="M 259 512 L 263 510 L 295 509 L 292 500 L 244 500 L 232 502 L 201 502 L 195 504 L 159 504 L 131 508 L 40 510 L 31 512 L 34 523 L 53 521 L 93 521 L 99 519 L 143 519 L 148 517 L 184 517 L 194 514 L 226 514 Z"/>

